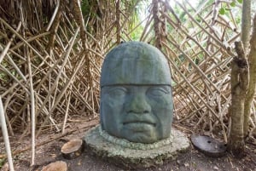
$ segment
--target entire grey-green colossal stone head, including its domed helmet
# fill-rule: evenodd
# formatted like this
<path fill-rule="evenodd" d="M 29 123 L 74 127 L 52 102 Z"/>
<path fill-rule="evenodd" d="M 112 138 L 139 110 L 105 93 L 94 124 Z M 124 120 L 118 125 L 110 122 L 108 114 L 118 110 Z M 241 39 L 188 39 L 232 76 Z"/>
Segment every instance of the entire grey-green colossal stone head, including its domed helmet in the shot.
<path fill-rule="evenodd" d="M 139 143 L 168 138 L 172 124 L 171 73 L 165 56 L 147 43 L 122 43 L 102 66 L 101 125 Z"/>

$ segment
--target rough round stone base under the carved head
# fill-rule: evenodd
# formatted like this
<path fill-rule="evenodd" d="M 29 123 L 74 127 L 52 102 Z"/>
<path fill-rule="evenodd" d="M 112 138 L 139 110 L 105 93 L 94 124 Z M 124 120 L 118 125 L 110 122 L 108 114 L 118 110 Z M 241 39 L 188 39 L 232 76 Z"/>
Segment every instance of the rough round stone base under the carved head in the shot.
<path fill-rule="evenodd" d="M 154 149 L 139 150 L 113 144 L 100 134 L 100 126 L 85 133 L 84 145 L 87 152 L 96 157 L 121 165 L 125 168 L 148 168 L 173 160 L 181 152 L 189 149 L 189 139 L 180 131 L 172 128 L 172 142 Z"/>

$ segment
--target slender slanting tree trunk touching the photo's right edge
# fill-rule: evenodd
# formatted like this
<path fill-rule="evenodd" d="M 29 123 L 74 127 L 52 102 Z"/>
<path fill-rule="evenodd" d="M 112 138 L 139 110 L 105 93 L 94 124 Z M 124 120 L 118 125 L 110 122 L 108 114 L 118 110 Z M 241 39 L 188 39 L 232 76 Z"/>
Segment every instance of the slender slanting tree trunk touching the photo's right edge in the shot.
<path fill-rule="evenodd" d="M 243 134 L 247 136 L 249 128 L 249 118 L 251 115 L 253 95 L 255 94 L 256 88 L 256 14 L 253 17 L 253 34 L 251 37 L 251 51 L 248 57 L 249 63 L 249 86 L 247 90 L 247 96 L 244 106 L 244 123 L 243 123 Z"/>

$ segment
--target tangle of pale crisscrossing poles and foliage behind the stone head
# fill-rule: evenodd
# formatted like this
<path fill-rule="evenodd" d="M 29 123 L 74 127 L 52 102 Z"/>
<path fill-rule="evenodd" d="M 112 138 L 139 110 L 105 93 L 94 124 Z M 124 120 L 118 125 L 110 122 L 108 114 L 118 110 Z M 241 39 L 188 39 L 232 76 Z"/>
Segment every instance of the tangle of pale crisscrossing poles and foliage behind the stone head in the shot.
<path fill-rule="evenodd" d="M 248 2 L 253 20 L 256 2 Z M 242 3 L 0 0 L 0 95 L 9 136 L 21 144 L 31 139 L 27 150 L 35 150 L 46 133 L 64 137 L 74 124 L 98 120 L 105 54 L 119 43 L 143 41 L 160 48 L 170 64 L 173 127 L 227 143 Z M 246 133 L 254 145 L 255 105 L 254 95 Z M 1 167 L 4 148 L 0 155 Z"/>

